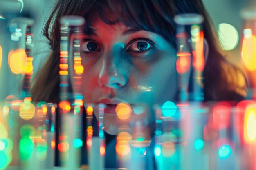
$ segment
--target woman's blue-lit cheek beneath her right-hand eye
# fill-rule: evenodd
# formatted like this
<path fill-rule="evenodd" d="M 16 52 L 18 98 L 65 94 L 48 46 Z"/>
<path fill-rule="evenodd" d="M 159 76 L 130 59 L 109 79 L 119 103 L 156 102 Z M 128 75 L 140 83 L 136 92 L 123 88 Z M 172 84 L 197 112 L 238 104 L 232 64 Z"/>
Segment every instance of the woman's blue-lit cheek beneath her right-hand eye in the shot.
<path fill-rule="evenodd" d="M 173 100 L 177 91 L 175 56 L 174 52 L 159 53 L 156 60 L 135 64 L 138 69 L 130 76 L 130 86 L 150 93 L 152 102 Z"/>

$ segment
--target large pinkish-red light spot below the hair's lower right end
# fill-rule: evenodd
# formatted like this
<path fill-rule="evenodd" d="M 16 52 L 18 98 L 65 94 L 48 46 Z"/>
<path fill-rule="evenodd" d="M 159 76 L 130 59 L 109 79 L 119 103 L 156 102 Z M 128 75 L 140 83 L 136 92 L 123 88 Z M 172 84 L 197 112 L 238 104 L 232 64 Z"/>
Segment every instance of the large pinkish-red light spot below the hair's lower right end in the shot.
<path fill-rule="evenodd" d="M 230 106 L 217 105 L 213 108 L 213 126 L 218 129 L 227 128 L 230 124 Z"/>

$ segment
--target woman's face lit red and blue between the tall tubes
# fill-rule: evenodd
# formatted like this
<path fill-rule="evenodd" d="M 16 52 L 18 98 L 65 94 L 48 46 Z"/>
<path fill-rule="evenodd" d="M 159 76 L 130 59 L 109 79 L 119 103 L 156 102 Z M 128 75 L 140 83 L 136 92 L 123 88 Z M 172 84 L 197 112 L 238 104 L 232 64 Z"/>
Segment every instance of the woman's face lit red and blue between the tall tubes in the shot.
<path fill-rule="evenodd" d="M 85 103 L 105 103 L 112 114 L 119 102 L 152 106 L 174 99 L 176 52 L 161 35 L 101 19 L 92 27 L 95 35 L 81 43 Z"/>

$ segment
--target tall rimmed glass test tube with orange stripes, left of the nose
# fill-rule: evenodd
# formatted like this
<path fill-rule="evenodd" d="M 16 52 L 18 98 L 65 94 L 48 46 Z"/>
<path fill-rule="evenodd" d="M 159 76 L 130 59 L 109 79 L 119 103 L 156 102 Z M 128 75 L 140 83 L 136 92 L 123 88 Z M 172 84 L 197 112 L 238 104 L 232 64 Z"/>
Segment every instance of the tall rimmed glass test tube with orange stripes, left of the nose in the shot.
<path fill-rule="evenodd" d="M 80 166 L 83 97 L 80 93 L 77 95 L 77 89 L 74 89 L 70 82 L 76 75 L 73 71 L 73 60 L 75 60 L 74 57 L 80 57 L 78 44 L 84 19 L 80 16 L 64 16 L 61 18 L 60 24 L 60 102 L 58 104 L 59 113 L 56 117 L 59 121 L 60 133 L 56 133 L 56 146 L 58 146 L 56 165 L 74 169 Z M 73 93 L 76 95 L 73 96 Z"/>

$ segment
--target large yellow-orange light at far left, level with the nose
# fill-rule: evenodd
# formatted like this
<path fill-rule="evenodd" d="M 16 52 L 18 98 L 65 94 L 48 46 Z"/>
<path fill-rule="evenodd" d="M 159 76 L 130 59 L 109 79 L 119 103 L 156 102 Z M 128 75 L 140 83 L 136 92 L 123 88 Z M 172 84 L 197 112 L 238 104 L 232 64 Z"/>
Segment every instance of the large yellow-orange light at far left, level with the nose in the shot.
<path fill-rule="evenodd" d="M 27 55 L 24 49 L 10 51 L 8 55 L 8 65 L 14 74 L 25 73 Z"/>

